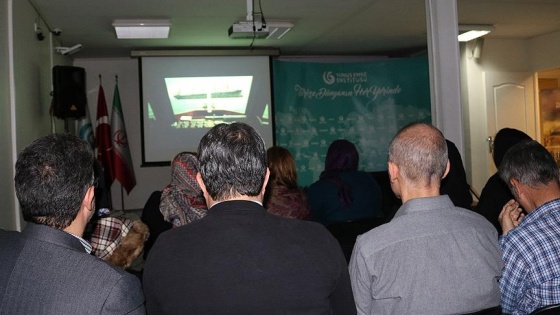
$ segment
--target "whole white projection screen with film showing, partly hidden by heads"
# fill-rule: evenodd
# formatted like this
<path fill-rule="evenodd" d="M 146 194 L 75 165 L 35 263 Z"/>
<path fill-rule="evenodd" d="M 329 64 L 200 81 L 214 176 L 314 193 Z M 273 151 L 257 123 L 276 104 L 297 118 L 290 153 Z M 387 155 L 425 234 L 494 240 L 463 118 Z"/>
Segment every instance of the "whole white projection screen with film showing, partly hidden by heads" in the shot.
<path fill-rule="evenodd" d="M 221 123 L 247 123 L 273 143 L 269 57 L 141 60 L 143 165 L 195 152 L 206 132 Z"/>

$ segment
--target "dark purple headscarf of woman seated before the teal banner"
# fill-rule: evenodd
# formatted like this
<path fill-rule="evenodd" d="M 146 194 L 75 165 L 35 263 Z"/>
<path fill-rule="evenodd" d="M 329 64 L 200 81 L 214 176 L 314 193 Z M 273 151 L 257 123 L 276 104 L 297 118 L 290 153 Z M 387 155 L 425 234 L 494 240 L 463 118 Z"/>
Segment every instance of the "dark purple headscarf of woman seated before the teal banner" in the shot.
<path fill-rule="evenodd" d="M 319 178 L 335 184 L 338 189 L 338 200 L 343 207 L 352 204 L 352 188 L 340 178 L 340 173 L 357 171 L 359 162 L 358 150 L 352 142 L 339 139 L 329 146 L 325 158 L 325 170 Z"/>

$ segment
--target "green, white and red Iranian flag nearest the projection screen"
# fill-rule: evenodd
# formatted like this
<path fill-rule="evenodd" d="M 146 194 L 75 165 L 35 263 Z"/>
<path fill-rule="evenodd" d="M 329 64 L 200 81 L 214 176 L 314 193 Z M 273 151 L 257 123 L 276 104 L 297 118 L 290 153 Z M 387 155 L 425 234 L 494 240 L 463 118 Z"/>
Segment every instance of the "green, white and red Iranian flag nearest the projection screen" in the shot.
<path fill-rule="evenodd" d="M 111 114 L 111 141 L 113 145 L 113 169 L 115 179 L 126 189 L 126 193 L 136 186 L 136 177 L 132 167 L 128 138 L 126 137 L 126 126 L 121 107 L 119 86 L 115 85 L 113 94 L 113 112 Z"/>

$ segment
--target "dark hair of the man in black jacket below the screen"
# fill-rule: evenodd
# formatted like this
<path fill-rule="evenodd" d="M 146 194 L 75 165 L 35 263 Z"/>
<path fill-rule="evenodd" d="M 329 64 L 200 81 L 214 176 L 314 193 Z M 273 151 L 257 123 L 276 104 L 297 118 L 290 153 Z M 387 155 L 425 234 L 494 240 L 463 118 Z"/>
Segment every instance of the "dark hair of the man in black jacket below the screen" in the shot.
<path fill-rule="evenodd" d="M 253 127 L 244 123 L 214 126 L 200 140 L 198 160 L 212 199 L 260 194 L 266 176 L 266 151 Z"/>

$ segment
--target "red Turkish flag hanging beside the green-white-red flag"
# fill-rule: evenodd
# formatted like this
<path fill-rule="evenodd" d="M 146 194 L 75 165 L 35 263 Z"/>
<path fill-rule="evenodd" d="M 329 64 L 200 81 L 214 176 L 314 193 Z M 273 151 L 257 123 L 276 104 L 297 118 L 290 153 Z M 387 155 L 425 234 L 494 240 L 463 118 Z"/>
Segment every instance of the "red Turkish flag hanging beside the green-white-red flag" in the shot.
<path fill-rule="evenodd" d="M 107 112 L 107 101 L 103 86 L 99 85 L 97 93 L 97 124 L 95 127 L 95 147 L 97 159 L 103 166 L 107 187 L 110 187 L 115 179 L 113 173 L 113 152 L 111 146 L 111 126 L 109 125 L 109 114 Z"/>

